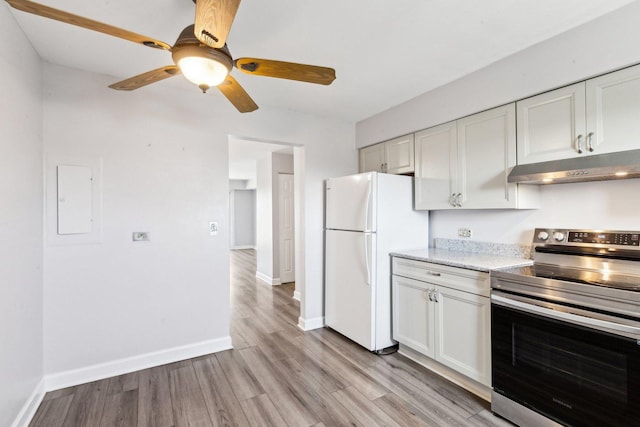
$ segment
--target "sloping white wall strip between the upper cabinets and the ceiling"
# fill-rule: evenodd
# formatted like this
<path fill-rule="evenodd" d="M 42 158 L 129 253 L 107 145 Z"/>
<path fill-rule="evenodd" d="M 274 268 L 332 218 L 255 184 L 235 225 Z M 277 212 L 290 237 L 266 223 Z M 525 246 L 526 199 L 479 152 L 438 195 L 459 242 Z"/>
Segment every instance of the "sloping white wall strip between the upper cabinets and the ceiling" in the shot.
<path fill-rule="evenodd" d="M 638 16 L 640 2 L 634 2 L 363 120 L 356 124 L 356 145 L 371 145 L 638 63 L 640 54 L 633 44 L 640 39 Z"/>

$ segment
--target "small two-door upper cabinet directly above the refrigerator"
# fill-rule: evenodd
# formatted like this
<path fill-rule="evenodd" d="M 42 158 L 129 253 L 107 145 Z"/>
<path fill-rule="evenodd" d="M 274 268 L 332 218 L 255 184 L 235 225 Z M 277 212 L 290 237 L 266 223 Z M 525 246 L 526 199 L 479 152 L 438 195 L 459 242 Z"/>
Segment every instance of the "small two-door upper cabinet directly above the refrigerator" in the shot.
<path fill-rule="evenodd" d="M 413 162 L 413 134 L 360 149 L 360 173 L 413 173 Z"/>

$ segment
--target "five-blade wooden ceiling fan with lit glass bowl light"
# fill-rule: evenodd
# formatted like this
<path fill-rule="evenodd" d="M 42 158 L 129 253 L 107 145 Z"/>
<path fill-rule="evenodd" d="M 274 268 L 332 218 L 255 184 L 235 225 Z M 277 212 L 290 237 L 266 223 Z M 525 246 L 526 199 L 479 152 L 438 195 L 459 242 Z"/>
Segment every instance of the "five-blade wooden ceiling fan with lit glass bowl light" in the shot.
<path fill-rule="evenodd" d="M 135 90 L 168 77 L 183 74 L 203 92 L 216 86 L 238 111 L 248 113 L 258 109 L 258 106 L 229 74 L 234 66 L 246 74 L 323 85 L 331 84 L 336 78 L 335 70 L 328 67 L 259 58 L 234 60 L 227 48 L 226 40 L 240 6 L 240 0 L 193 0 L 196 4 L 195 24 L 182 30 L 173 46 L 29 0 L 5 1 L 11 7 L 23 12 L 171 52 L 174 65 L 160 67 L 114 83 L 109 86 L 112 89 Z"/>

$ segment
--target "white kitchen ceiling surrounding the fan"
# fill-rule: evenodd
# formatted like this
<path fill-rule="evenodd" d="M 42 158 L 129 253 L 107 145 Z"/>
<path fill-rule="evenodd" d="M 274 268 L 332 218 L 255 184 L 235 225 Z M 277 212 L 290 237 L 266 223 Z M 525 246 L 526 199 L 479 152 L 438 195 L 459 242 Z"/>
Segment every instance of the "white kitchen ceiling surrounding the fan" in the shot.
<path fill-rule="evenodd" d="M 194 16 L 192 0 L 39 1 L 169 44 Z M 259 106 L 355 122 L 631 2 L 245 0 L 227 42 L 235 58 L 336 69 L 331 86 L 234 71 Z M 115 82 L 172 63 L 169 52 L 13 12 L 40 56 L 54 64 L 111 75 Z M 182 77 L 156 85 L 202 96 Z M 217 91 L 206 96 L 227 102 Z"/>

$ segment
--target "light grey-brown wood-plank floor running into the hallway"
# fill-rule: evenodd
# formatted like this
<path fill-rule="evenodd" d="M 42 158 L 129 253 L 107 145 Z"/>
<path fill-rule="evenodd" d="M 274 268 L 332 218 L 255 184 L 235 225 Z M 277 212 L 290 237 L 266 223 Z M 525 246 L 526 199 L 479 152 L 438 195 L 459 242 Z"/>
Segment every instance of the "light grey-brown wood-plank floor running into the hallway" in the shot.
<path fill-rule="evenodd" d="M 403 356 L 296 327 L 293 286 L 231 255 L 233 350 L 47 393 L 31 426 L 506 426 L 478 397 Z"/>

